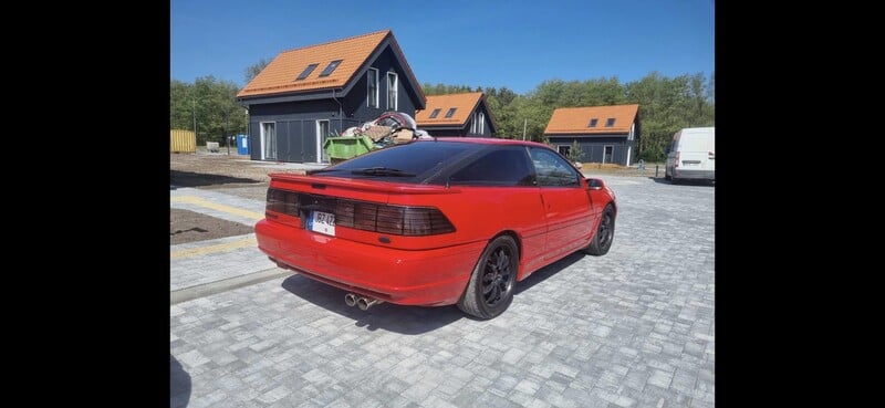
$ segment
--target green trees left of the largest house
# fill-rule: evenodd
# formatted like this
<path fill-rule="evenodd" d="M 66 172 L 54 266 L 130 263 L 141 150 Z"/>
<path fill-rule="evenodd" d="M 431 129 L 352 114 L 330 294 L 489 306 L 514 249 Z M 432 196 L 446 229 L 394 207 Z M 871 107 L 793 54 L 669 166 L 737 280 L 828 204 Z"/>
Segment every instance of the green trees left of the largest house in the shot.
<path fill-rule="evenodd" d="M 246 109 L 237 104 L 239 86 L 214 76 L 198 77 L 192 84 L 169 81 L 169 128 L 194 130 L 197 145 L 218 142 L 225 135 L 246 134 Z"/>

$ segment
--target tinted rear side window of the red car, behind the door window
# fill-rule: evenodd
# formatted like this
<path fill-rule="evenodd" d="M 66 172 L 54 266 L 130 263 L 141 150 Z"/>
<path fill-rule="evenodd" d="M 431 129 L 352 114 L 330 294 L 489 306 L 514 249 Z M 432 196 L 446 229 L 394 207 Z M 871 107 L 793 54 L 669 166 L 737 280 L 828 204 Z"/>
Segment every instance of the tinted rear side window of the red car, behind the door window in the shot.
<path fill-rule="evenodd" d="M 459 186 L 534 186 L 534 174 L 525 148 L 513 147 L 490 151 L 478 157 L 449 177 Z"/>

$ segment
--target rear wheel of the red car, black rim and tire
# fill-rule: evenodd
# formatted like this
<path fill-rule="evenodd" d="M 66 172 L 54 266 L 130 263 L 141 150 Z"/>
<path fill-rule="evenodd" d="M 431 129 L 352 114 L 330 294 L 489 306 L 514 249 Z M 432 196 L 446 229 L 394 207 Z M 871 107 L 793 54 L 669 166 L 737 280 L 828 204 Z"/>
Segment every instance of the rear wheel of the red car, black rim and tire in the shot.
<path fill-rule="evenodd" d="M 489 242 L 479 257 L 458 308 L 481 320 L 503 313 L 513 301 L 519 271 L 519 247 L 510 236 Z"/>

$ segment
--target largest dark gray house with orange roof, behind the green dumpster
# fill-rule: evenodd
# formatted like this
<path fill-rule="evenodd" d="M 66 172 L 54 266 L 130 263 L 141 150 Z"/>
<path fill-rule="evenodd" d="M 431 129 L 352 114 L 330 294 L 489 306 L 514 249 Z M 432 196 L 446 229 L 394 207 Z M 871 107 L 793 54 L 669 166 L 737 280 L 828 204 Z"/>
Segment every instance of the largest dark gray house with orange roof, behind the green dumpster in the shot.
<path fill-rule="evenodd" d="M 323 142 L 385 112 L 415 117 L 424 92 L 391 30 L 281 52 L 237 101 L 253 160 L 329 163 Z"/>

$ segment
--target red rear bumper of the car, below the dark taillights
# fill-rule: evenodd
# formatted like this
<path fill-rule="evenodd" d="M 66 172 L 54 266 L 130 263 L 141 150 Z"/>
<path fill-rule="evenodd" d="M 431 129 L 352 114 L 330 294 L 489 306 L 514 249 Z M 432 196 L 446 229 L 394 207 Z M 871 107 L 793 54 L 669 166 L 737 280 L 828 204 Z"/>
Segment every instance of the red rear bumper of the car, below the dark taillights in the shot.
<path fill-rule="evenodd" d="M 261 220 L 259 249 L 281 268 L 365 296 L 403 305 L 458 302 L 485 248 L 476 242 L 406 251 Z"/>

